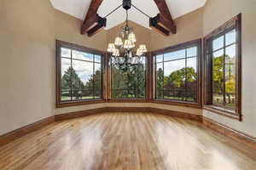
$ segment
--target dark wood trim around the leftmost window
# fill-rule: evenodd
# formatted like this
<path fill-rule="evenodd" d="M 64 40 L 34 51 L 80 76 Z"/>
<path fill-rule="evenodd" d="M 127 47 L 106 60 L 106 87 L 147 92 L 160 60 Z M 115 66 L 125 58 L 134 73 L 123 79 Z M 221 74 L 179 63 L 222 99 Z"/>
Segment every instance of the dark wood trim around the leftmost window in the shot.
<path fill-rule="evenodd" d="M 84 100 L 73 100 L 73 101 L 61 101 L 61 48 L 71 48 L 73 50 L 79 50 L 90 54 L 98 54 L 102 56 L 102 70 L 104 70 L 104 52 L 86 48 L 84 46 L 76 45 L 70 42 L 63 42 L 60 40 L 56 40 L 56 107 L 68 107 L 68 106 L 76 106 L 76 105 L 90 105 L 96 103 L 105 102 L 104 95 L 104 73 L 102 73 L 102 98 L 101 99 L 84 99 Z"/>

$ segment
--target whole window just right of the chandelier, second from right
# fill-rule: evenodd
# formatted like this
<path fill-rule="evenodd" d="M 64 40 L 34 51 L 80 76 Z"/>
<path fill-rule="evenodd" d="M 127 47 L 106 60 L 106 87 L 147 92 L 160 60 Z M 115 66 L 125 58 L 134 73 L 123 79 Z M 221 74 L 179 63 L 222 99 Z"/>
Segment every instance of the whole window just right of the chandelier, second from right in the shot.
<path fill-rule="evenodd" d="M 154 55 L 155 99 L 199 103 L 200 47 L 195 40 Z"/>

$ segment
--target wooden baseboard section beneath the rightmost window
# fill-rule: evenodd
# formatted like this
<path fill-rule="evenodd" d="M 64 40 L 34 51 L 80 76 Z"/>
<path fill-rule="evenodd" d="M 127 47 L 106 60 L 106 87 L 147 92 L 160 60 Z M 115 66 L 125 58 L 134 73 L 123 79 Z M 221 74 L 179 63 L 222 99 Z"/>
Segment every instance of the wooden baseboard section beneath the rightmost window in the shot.
<path fill-rule="evenodd" d="M 248 147 L 252 148 L 253 150 L 256 150 L 256 139 L 250 135 L 247 135 L 245 133 L 241 133 L 239 131 L 236 131 L 235 129 L 231 127 L 227 127 L 221 123 L 215 122 L 212 119 L 209 119 L 207 117 L 203 118 L 203 124 L 211 128 L 212 130 L 222 133 L 225 136 L 230 137 L 231 139 L 234 139 L 242 144 L 247 145 Z"/>

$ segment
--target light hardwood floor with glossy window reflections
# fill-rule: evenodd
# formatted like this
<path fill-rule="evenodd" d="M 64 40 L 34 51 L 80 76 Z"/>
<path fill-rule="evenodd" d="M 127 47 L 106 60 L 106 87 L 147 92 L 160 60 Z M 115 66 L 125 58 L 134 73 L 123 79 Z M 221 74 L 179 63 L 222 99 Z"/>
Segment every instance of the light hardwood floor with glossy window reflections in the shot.
<path fill-rule="evenodd" d="M 200 122 L 104 113 L 55 122 L 2 146 L 0 169 L 255 170 L 256 152 Z"/>

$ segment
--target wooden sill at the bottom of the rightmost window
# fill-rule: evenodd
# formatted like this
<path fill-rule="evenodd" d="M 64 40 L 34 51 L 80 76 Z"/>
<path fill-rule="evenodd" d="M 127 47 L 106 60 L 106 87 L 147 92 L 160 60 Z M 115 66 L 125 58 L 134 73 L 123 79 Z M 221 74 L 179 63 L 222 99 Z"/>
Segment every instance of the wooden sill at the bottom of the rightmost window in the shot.
<path fill-rule="evenodd" d="M 241 121 L 241 115 L 239 113 L 230 109 L 226 109 L 224 107 L 218 107 L 216 105 L 203 105 L 203 109 L 207 111 L 212 111 L 213 113 L 217 113 L 221 116 L 227 116 L 232 119 Z"/>

